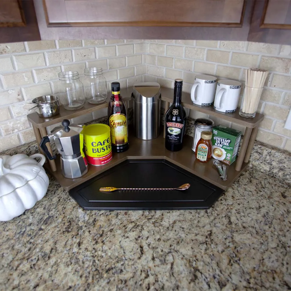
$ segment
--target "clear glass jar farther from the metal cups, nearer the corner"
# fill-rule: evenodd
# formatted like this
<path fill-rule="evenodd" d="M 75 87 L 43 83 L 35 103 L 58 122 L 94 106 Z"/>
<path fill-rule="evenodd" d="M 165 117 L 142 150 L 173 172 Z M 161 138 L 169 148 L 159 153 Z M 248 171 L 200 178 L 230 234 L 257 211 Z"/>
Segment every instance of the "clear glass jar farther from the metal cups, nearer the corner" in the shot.
<path fill-rule="evenodd" d="M 102 68 L 84 69 L 83 79 L 85 97 L 89 103 L 102 103 L 107 99 L 106 79 Z"/>

